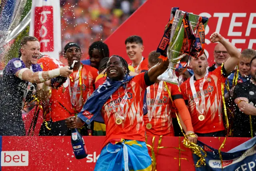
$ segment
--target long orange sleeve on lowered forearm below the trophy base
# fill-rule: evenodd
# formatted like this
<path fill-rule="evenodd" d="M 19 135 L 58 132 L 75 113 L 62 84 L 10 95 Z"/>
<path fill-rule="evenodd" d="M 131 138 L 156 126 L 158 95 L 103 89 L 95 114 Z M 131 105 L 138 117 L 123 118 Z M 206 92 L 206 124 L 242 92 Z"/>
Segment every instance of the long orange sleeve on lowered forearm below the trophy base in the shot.
<path fill-rule="evenodd" d="M 192 122 L 191 122 L 191 116 L 190 116 L 188 108 L 185 104 L 185 101 L 182 98 L 178 98 L 178 99 L 174 100 L 174 104 L 180 113 L 181 119 L 184 122 L 184 124 L 187 128 L 187 131 L 194 132 Z"/>

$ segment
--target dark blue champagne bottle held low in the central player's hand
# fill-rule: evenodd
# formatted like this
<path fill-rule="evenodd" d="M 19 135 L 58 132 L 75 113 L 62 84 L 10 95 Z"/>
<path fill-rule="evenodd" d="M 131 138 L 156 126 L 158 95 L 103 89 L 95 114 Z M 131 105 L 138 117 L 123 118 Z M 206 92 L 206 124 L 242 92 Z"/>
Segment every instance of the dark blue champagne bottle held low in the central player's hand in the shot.
<path fill-rule="evenodd" d="M 76 128 L 72 129 L 71 134 L 72 134 L 71 144 L 72 144 L 76 159 L 84 159 L 85 157 L 87 157 L 88 153 L 87 153 L 86 146 L 84 144 L 83 137 L 81 136 L 81 134 L 78 132 Z"/>

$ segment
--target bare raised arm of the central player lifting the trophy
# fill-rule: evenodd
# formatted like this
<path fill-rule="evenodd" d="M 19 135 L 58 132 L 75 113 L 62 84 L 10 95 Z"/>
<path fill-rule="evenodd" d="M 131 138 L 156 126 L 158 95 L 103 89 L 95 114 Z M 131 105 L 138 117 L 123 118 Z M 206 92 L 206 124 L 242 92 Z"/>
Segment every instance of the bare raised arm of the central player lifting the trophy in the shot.
<path fill-rule="evenodd" d="M 157 80 L 157 77 L 164 73 L 168 69 L 169 60 L 163 61 L 159 59 L 159 62 L 148 70 L 148 77 L 152 83 Z"/>

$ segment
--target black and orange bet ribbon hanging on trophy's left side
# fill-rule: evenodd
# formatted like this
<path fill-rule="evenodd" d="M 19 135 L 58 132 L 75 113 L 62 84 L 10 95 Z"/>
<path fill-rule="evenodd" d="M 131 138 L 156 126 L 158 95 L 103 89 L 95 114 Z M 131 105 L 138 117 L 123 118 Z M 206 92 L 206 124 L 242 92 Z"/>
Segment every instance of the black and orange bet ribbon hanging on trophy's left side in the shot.
<path fill-rule="evenodd" d="M 163 61 L 166 61 L 168 59 L 166 52 L 168 49 L 168 45 L 170 43 L 170 30 L 172 28 L 172 23 L 174 21 L 175 12 L 178 9 L 179 8 L 172 8 L 170 20 L 169 20 L 168 24 L 165 26 L 164 35 L 156 49 L 156 52 L 159 52 L 161 54 L 161 56 L 158 58 L 162 59 Z"/>

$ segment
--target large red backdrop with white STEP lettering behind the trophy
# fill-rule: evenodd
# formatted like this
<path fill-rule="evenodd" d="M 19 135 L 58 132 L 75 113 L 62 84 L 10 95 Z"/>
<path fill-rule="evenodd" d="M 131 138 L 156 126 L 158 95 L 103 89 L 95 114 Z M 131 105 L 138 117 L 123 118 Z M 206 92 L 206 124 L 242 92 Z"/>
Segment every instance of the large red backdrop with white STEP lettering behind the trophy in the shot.
<path fill-rule="evenodd" d="M 124 22 L 105 43 L 110 48 L 110 55 L 117 54 L 130 62 L 126 54 L 125 39 L 130 35 L 139 35 L 145 46 L 143 55 L 148 57 L 150 51 L 156 50 L 164 27 L 170 18 L 172 7 L 209 18 L 205 29 L 205 52 L 210 65 L 214 63 L 215 43 L 210 43 L 210 35 L 217 31 L 240 49 L 256 49 L 256 13 L 254 0 L 173 1 L 147 0 L 126 22 Z M 231 5 L 236 4 L 236 5 Z"/>

